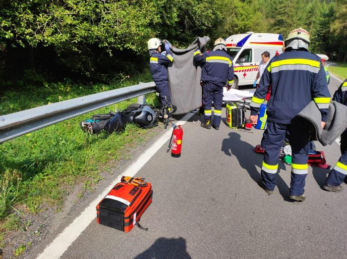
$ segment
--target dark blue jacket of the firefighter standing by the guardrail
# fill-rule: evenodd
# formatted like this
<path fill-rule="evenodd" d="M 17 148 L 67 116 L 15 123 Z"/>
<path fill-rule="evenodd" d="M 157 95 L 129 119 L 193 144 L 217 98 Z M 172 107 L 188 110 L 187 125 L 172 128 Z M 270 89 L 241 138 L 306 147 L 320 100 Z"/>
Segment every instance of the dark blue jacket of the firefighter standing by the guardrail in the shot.
<path fill-rule="evenodd" d="M 167 65 L 173 62 L 173 52 L 167 51 L 167 55 L 161 53 L 153 53 L 149 60 L 149 67 L 153 77 L 153 81 L 157 84 L 168 81 Z"/>

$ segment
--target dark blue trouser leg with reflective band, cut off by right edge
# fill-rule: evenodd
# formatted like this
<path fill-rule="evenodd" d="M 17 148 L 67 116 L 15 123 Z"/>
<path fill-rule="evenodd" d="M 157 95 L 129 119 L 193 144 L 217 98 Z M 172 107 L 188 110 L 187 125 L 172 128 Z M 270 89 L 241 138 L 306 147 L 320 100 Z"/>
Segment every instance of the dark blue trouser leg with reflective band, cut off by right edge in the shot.
<path fill-rule="evenodd" d="M 341 135 L 341 157 L 326 180 L 327 184 L 339 186 L 347 179 L 347 131 Z"/>

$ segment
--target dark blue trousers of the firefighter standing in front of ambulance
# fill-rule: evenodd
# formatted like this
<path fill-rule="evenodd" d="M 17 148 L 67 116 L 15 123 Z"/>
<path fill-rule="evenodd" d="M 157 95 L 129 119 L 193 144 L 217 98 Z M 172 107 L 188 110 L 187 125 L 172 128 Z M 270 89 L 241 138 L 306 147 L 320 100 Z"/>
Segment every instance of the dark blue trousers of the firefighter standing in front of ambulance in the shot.
<path fill-rule="evenodd" d="M 204 105 L 205 109 L 204 120 L 206 124 L 210 124 L 212 102 L 215 106 L 213 126 L 219 127 L 222 117 L 223 87 L 210 83 L 204 83 L 202 87 L 202 104 Z"/>

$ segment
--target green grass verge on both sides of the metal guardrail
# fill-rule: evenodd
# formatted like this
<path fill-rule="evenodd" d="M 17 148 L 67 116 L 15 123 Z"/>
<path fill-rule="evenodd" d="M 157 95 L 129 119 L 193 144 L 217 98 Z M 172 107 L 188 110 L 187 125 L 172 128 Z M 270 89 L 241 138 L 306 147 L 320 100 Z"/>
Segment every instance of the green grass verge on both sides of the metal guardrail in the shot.
<path fill-rule="evenodd" d="M 7 91 L 0 98 L 0 114 L 135 85 L 139 81 L 152 81 L 151 75 L 147 72 L 114 85 L 86 87 L 65 82 Z M 147 100 L 149 104 L 157 104 L 155 94 L 148 95 Z M 91 192 L 102 180 L 100 172 L 104 168 L 110 171 L 107 165 L 110 160 L 129 158 L 127 151 L 143 143 L 143 136 L 151 130 L 128 125 L 121 134 L 90 135 L 80 129 L 79 122 L 96 113 L 122 110 L 136 101 L 111 105 L 1 144 L 0 230 L 16 230 L 18 222 L 10 214 L 15 207 L 24 205 L 27 213 L 38 213 L 47 206 L 59 207 L 76 183 L 83 183 L 83 192 Z"/>

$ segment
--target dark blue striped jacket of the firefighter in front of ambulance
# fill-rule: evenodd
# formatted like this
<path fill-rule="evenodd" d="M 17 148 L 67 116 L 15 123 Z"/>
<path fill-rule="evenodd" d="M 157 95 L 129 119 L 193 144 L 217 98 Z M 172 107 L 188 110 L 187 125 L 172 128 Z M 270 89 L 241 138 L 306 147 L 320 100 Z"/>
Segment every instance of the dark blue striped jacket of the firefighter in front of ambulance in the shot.
<path fill-rule="evenodd" d="M 194 60 L 203 65 L 201 81 L 220 87 L 234 83 L 234 68 L 227 52 L 219 50 L 201 54 L 200 50 L 197 50 L 194 52 Z"/>

